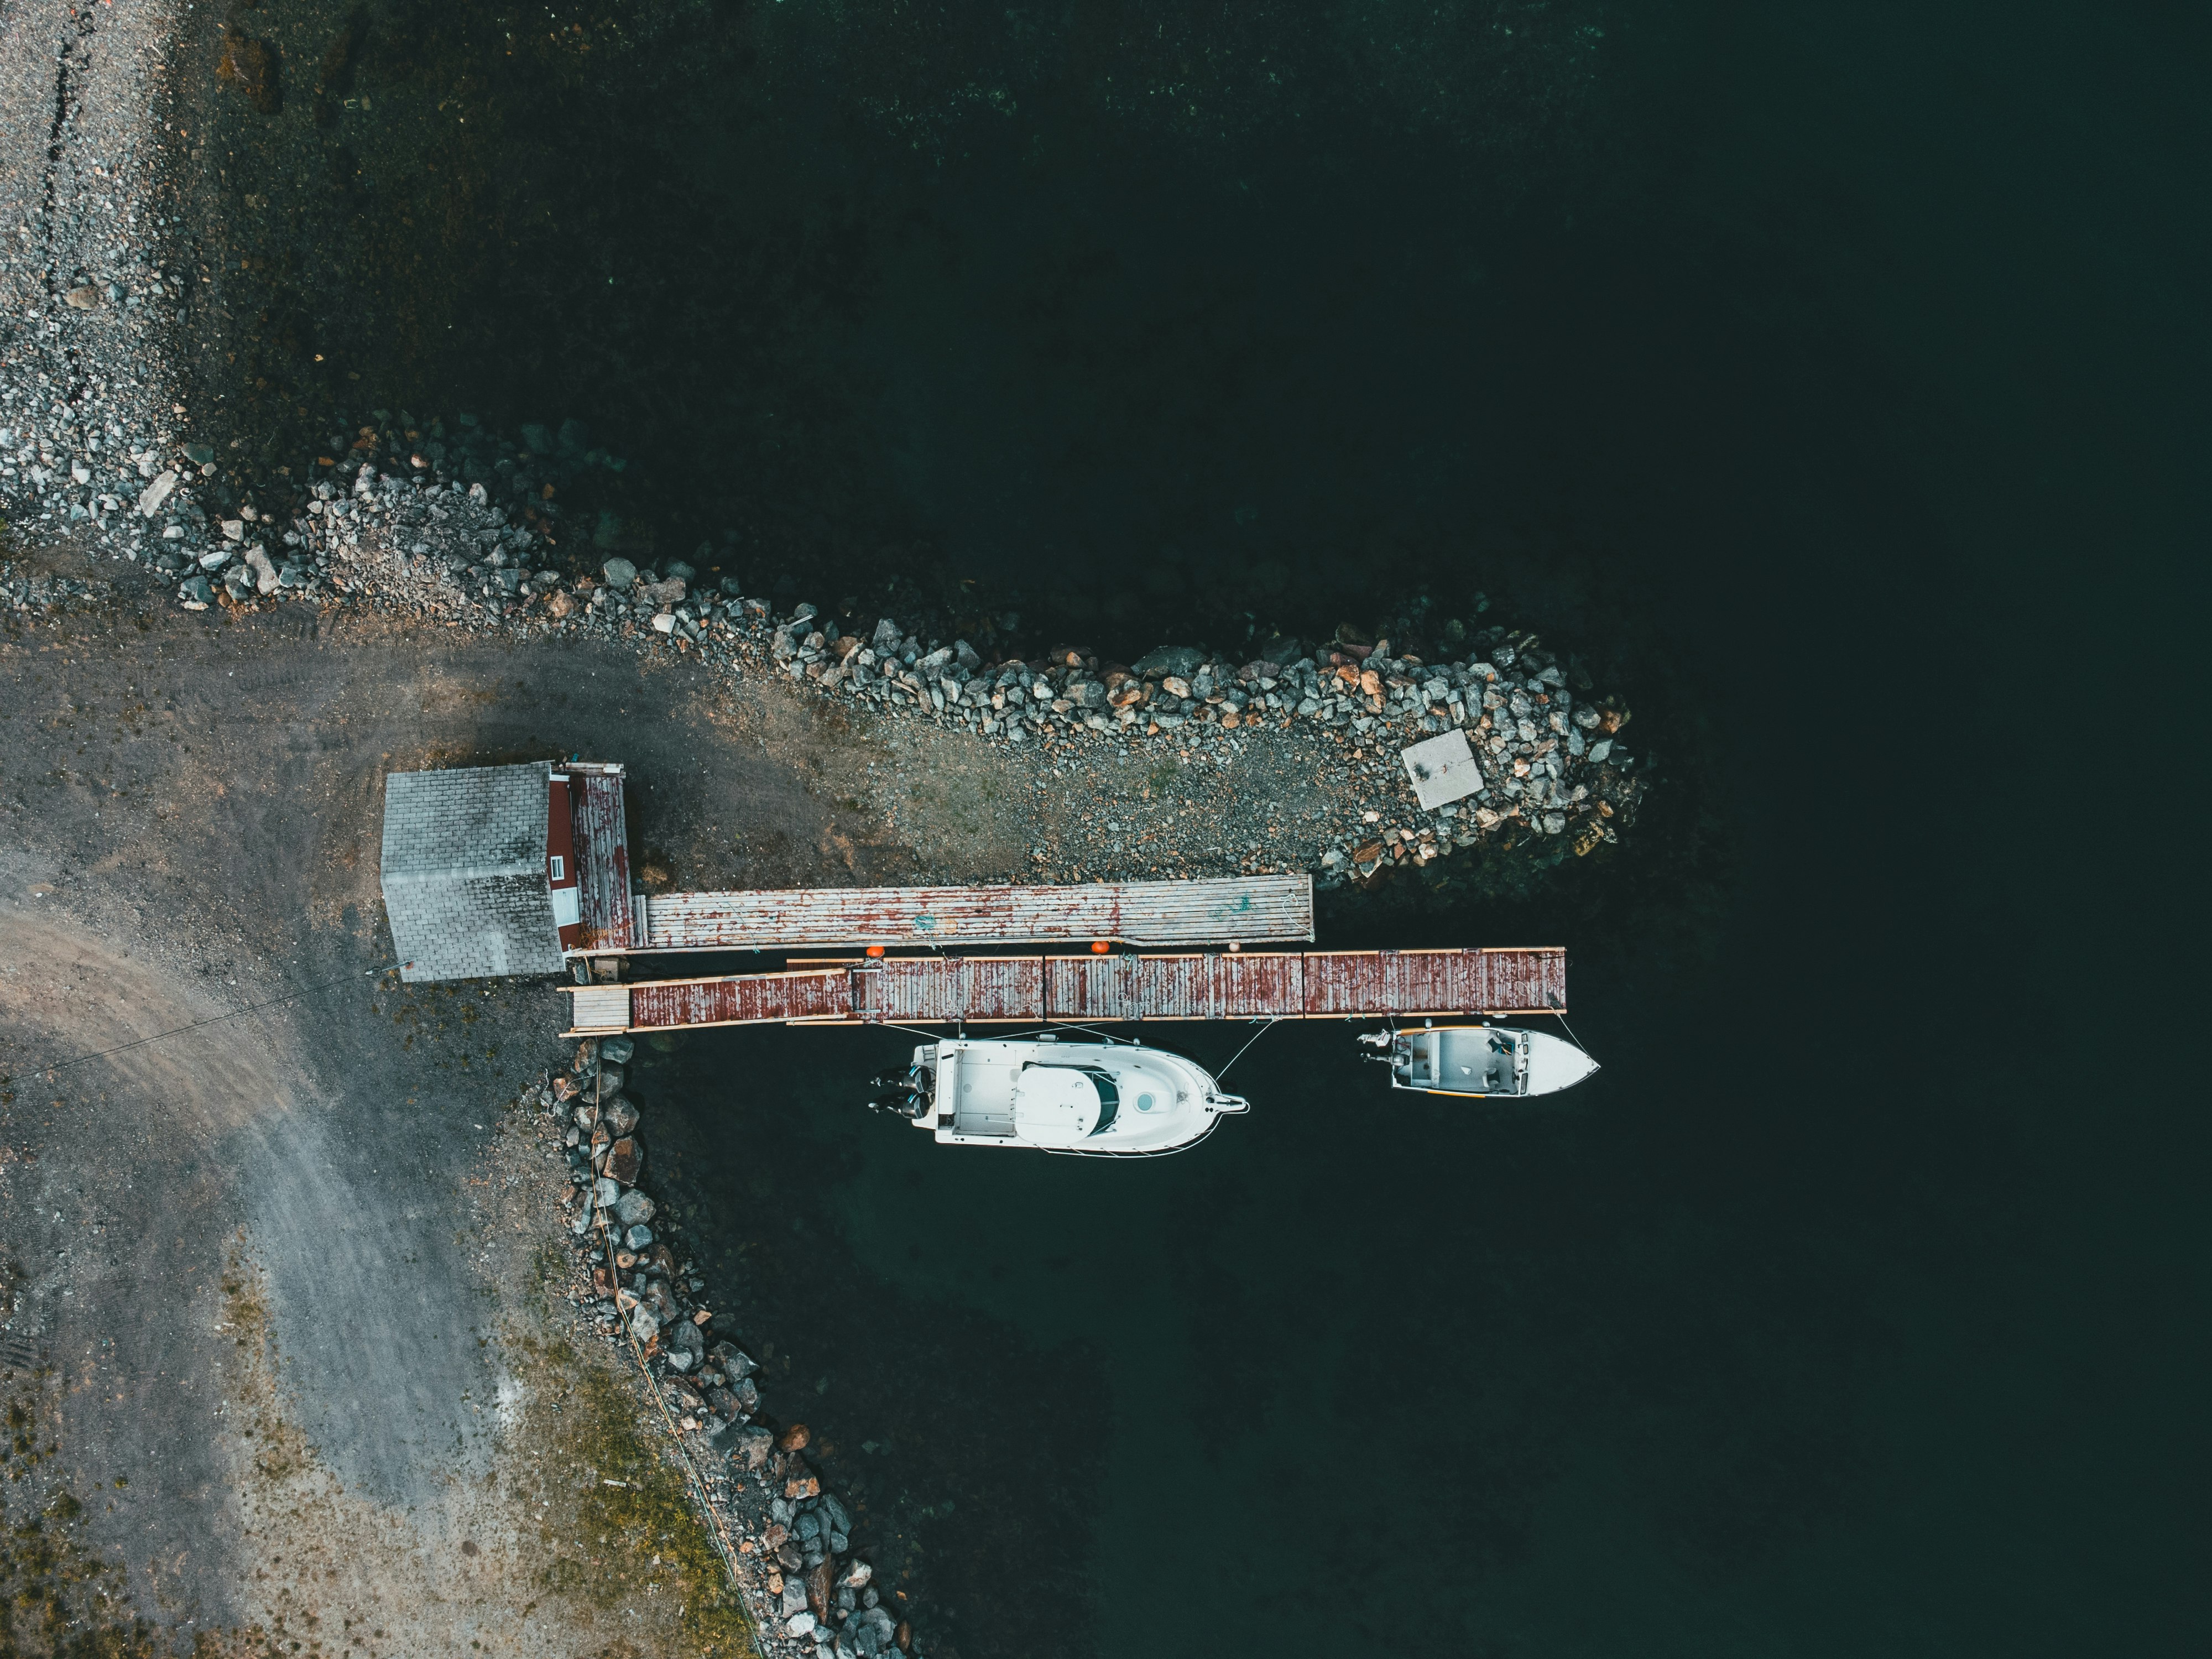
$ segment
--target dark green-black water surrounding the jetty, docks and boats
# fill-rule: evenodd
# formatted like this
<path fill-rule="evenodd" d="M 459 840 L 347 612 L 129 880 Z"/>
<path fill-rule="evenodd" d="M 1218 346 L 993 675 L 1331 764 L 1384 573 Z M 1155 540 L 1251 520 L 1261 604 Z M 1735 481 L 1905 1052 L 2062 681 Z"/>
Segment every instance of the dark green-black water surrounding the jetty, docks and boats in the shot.
<path fill-rule="evenodd" d="M 2205 1650 L 2192 11 L 409 15 L 349 188 L 436 279 L 301 274 L 270 400 L 582 416 L 630 546 L 1108 653 L 1480 588 L 1663 776 L 1325 916 L 1573 947 L 1544 1110 L 1281 1029 L 1102 1168 L 860 1115 L 894 1035 L 644 1057 L 938 1652 Z"/>

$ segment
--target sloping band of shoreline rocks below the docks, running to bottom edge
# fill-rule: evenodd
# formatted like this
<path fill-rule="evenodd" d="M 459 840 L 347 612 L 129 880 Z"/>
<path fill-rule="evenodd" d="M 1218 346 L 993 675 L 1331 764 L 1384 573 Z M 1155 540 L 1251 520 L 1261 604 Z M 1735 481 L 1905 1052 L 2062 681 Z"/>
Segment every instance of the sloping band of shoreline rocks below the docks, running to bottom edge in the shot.
<path fill-rule="evenodd" d="M 776 1422 L 759 1365 L 644 1190 L 639 1110 L 624 1095 L 628 1037 L 582 1042 L 535 1104 L 571 1170 L 573 1298 L 646 1369 L 726 1546 L 759 1646 L 779 1659 L 920 1655 L 905 1593 L 874 1582 L 863 1517 Z"/>

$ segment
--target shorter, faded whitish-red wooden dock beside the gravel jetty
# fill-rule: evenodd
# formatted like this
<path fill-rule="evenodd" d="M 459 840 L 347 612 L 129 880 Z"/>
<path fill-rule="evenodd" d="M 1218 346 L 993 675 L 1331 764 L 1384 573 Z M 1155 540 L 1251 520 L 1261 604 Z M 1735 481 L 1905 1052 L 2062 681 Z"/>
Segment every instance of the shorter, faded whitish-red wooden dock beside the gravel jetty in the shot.
<path fill-rule="evenodd" d="M 1290 945 L 1314 940 L 1312 876 L 1084 887 L 807 887 L 646 898 L 646 951 L 805 945 Z"/>

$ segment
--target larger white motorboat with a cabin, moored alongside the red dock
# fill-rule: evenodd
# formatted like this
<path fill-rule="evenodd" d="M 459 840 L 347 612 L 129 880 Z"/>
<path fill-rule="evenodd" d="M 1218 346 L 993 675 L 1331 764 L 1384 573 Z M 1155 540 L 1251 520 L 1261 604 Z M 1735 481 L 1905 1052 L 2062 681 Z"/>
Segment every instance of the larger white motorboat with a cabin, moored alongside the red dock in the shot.
<path fill-rule="evenodd" d="M 1197 1146 L 1250 1102 L 1139 1042 L 958 1037 L 914 1051 L 896 1110 L 945 1146 L 1155 1157 Z"/>

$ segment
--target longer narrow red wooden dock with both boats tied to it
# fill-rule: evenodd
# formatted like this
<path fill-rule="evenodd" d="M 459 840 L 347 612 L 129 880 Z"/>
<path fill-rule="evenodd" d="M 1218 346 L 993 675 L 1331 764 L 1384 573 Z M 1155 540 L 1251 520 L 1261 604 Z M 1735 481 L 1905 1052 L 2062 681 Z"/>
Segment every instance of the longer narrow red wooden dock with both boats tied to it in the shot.
<path fill-rule="evenodd" d="M 568 1035 L 754 1024 L 1053 1024 L 1566 1013 L 1566 949 L 885 956 L 562 987 Z"/>

